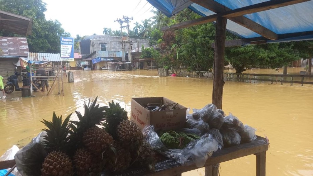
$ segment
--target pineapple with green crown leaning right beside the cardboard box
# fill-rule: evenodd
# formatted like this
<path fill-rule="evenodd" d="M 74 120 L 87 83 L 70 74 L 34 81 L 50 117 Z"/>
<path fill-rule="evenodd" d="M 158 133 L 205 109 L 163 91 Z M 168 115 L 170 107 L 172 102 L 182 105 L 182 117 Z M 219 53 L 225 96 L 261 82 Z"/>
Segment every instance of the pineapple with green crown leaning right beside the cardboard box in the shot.
<path fill-rule="evenodd" d="M 127 118 L 127 112 L 121 108 L 119 103 L 109 103 L 109 108 L 105 108 L 104 126 L 113 139 L 125 148 L 138 147 L 142 140 L 143 135 L 140 128 L 136 123 L 131 122 Z"/>

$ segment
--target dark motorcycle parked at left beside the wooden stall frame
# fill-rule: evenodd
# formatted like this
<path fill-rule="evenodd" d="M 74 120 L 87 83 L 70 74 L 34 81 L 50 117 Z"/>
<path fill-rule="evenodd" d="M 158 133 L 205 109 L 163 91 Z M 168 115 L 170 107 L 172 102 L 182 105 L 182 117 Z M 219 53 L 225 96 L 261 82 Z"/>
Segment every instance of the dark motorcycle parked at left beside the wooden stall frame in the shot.
<path fill-rule="evenodd" d="M 8 82 L 4 86 L 4 92 L 5 93 L 12 93 L 14 90 L 20 91 L 23 90 L 23 88 L 20 88 L 18 85 L 18 77 L 22 76 L 19 74 L 17 71 L 14 72 L 14 75 L 11 75 L 8 77 Z M 30 86 L 30 78 L 24 78 L 23 80 L 23 86 Z M 38 83 L 37 81 L 34 81 L 34 84 L 40 89 L 41 84 Z M 36 88 L 33 87 L 34 91 L 37 91 Z"/>

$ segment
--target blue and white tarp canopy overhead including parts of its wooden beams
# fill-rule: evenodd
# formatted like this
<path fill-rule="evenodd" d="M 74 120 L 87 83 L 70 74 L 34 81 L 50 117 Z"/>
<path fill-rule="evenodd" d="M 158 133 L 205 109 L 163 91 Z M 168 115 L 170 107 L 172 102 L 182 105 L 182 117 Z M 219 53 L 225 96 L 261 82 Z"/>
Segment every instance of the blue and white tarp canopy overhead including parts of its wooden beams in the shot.
<path fill-rule="evenodd" d="M 214 15 L 221 9 L 224 11 L 231 11 L 234 9 L 244 8 L 259 3 L 265 4 L 265 2 L 273 3 L 275 0 L 147 0 L 154 7 L 161 10 L 167 17 L 178 13 L 184 8 L 190 8 L 195 13 L 203 17 Z M 287 2 L 288 1 L 288 2 Z M 283 7 L 276 6 L 275 8 L 263 9 L 264 11 L 258 11 L 255 13 L 244 13 L 240 16 L 225 17 L 228 18 L 227 30 L 240 38 L 258 38 L 266 37 L 255 32 L 257 28 L 263 28 L 269 33 L 277 34 L 277 39 L 300 37 L 301 39 L 311 39 L 313 31 L 313 1 L 293 1 L 292 5 L 288 5 L 292 0 L 280 1 L 285 3 Z M 197 3 L 194 3 L 197 2 Z M 287 3 L 286 3 L 287 2 Z M 298 3 L 300 2 L 300 3 Z M 274 2 L 275 3 L 275 2 Z M 276 0 L 276 4 L 279 1 Z M 199 5 L 201 4 L 201 5 Z M 286 5 L 287 4 L 287 5 Z M 203 7 L 203 6 L 206 6 Z M 209 8 L 209 9 L 208 9 Z M 259 8 L 260 9 L 260 8 Z M 214 12 L 215 11 L 215 12 Z M 217 13 L 216 13 L 217 12 Z M 215 18 L 216 19 L 216 18 Z M 244 23 L 244 25 L 243 25 Z M 249 24 L 248 24 L 249 23 Z M 248 24 L 248 25 L 247 25 Z M 247 28 L 247 26 L 250 26 Z M 258 29 L 258 30 L 259 30 Z M 262 31 L 262 30 L 260 30 Z M 288 35 L 292 34 L 292 35 Z M 307 36 L 307 37 L 303 37 Z M 269 38 L 269 37 L 266 37 Z M 269 38 L 273 39 L 273 38 Z"/>

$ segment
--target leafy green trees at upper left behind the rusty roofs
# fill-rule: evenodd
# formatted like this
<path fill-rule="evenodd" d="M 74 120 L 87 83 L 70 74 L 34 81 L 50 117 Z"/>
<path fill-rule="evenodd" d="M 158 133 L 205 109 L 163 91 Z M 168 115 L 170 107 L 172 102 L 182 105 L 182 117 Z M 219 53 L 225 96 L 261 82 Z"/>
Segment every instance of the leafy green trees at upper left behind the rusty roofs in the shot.
<path fill-rule="evenodd" d="M 46 20 L 46 3 L 42 0 L 0 0 L 0 9 L 33 19 L 32 34 L 27 36 L 30 52 L 59 53 L 60 37 L 69 37 L 57 20 Z M 19 36 L 0 31 L 1 36 Z"/>

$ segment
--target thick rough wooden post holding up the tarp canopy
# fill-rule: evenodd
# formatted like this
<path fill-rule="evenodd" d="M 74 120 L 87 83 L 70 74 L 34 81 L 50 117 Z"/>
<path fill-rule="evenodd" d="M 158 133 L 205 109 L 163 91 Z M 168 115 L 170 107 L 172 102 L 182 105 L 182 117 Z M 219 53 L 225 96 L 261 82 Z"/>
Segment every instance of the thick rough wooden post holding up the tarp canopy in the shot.
<path fill-rule="evenodd" d="M 227 19 L 218 17 L 215 28 L 214 63 L 213 63 L 213 92 L 212 103 L 218 109 L 222 109 L 224 87 L 224 61 Z"/>

